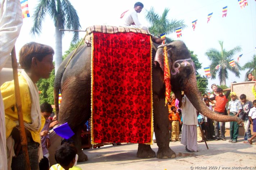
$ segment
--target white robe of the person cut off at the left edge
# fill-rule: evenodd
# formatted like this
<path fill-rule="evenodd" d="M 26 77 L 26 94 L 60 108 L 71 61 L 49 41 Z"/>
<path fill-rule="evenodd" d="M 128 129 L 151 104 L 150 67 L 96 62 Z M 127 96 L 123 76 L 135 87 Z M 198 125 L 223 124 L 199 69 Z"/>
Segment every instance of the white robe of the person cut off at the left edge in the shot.
<path fill-rule="evenodd" d="M 3 69 L 22 26 L 19 0 L 3 0 L 0 8 L 0 71 Z M 1 92 L 1 91 L 0 91 Z M 7 170 L 4 103 L 0 94 L 0 169 Z"/>

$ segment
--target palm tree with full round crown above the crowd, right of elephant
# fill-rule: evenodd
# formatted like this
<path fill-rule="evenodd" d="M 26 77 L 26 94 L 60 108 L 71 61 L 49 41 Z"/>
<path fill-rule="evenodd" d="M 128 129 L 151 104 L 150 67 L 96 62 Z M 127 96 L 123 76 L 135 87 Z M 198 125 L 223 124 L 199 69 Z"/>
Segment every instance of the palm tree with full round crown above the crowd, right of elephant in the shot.
<path fill-rule="evenodd" d="M 223 48 L 223 41 L 219 41 L 220 51 L 215 48 L 210 48 L 207 50 L 205 55 L 211 61 L 210 70 L 211 70 L 211 79 L 215 79 L 218 74 L 220 85 L 226 85 L 226 79 L 228 78 L 228 70 L 233 72 L 236 77 L 240 77 L 241 66 L 235 61 L 236 66 L 231 67 L 229 65 L 229 60 L 237 53 L 241 51 L 241 47 L 237 46 L 229 51 L 226 51 Z M 215 67 L 219 65 L 219 69 Z"/>

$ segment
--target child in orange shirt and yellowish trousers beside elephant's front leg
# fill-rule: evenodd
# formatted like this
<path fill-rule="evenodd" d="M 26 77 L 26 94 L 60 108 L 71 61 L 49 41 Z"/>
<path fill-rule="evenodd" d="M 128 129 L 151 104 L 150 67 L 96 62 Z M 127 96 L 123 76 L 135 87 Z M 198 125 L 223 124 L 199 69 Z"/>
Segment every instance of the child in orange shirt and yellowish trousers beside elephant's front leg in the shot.
<path fill-rule="evenodd" d="M 180 139 L 179 139 L 179 124 L 181 124 L 181 122 L 180 122 L 179 113 L 176 112 L 176 108 L 174 106 L 172 106 L 171 110 L 172 110 L 172 112 L 169 113 L 169 121 L 172 123 L 171 141 L 176 142 L 176 141 L 180 141 Z"/>

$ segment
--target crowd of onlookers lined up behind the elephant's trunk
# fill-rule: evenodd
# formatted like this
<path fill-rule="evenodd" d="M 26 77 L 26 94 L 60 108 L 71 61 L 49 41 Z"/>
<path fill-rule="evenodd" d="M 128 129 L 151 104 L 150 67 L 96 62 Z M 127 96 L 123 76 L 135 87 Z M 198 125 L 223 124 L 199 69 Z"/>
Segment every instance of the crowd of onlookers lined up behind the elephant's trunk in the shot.
<path fill-rule="evenodd" d="M 256 81 L 252 74 L 247 75 L 247 81 Z M 255 84 L 252 86 L 251 93 L 255 95 Z M 252 144 L 255 135 L 251 135 L 250 125 L 253 126 L 253 132 L 256 132 L 256 100 L 249 101 L 246 99 L 245 94 L 239 96 L 235 92 L 231 92 L 230 88 L 221 89 L 216 84 L 211 85 L 213 93 L 208 97 L 207 94 L 202 95 L 202 100 L 206 106 L 217 114 L 237 116 L 243 120 L 241 124 L 244 126 L 244 141 L 243 143 Z M 227 93 L 223 93 L 227 91 Z M 231 100 L 228 102 L 228 97 Z M 169 122 L 170 122 L 170 141 L 181 141 L 186 146 L 188 152 L 197 151 L 197 142 L 205 141 L 226 141 L 225 137 L 225 122 L 212 121 L 210 118 L 205 117 L 201 113 L 198 113 L 195 107 L 191 104 L 187 96 L 182 98 L 182 102 L 179 104 L 175 94 L 171 95 L 171 99 L 168 101 L 169 110 Z M 180 128 L 182 127 L 182 131 Z M 230 122 L 230 143 L 237 143 L 239 124 L 237 122 Z M 181 139 L 179 134 L 182 132 Z"/>

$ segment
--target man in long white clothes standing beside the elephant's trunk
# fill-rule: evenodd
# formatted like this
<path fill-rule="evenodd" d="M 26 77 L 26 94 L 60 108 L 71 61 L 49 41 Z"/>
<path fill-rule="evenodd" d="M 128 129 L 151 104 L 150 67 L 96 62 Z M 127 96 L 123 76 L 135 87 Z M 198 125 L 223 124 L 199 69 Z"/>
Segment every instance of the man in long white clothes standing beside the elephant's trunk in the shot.
<path fill-rule="evenodd" d="M 179 103 L 182 109 L 182 135 L 180 143 L 186 146 L 186 151 L 197 152 L 197 114 L 196 108 L 185 95 Z"/>

